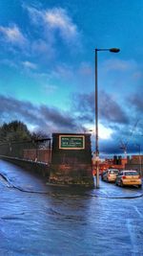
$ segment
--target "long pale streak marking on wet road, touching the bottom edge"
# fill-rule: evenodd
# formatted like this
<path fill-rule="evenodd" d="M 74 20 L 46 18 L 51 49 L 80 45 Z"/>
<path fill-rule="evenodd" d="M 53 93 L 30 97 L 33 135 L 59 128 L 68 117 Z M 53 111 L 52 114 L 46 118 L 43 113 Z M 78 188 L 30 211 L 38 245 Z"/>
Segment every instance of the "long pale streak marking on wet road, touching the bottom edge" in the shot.
<path fill-rule="evenodd" d="M 127 228 L 129 231 L 130 240 L 131 240 L 132 247 L 133 247 L 132 255 L 135 256 L 136 253 L 138 253 L 138 246 L 137 246 L 137 241 L 136 241 L 136 236 L 135 236 L 135 230 L 134 230 L 131 219 L 127 220 Z"/>

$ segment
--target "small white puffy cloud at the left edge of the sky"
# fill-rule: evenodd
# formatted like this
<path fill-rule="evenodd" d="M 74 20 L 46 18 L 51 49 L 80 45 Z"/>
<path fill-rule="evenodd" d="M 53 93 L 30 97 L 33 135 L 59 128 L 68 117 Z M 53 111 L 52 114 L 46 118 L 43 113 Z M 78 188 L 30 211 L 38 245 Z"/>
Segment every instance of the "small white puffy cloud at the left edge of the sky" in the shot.
<path fill-rule="evenodd" d="M 0 33 L 7 42 L 13 45 L 23 46 L 27 41 L 16 24 L 12 24 L 10 27 L 0 26 Z"/>

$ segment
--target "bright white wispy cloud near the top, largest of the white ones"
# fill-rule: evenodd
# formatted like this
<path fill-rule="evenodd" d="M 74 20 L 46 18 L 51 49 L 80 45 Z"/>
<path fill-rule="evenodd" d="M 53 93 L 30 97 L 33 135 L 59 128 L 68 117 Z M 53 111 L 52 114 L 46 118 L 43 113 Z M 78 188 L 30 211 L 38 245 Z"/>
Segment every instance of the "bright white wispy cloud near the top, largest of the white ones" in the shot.
<path fill-rule="evenodd" d="M 77 43 L 79 32 L 77 26 L 73 23 L 72 17 L 65 9 L 52 8 L 48 10 L 37 10 L 30 6 L 24 6 L 29 12 L 32 23 L 43 29 L 45 37 L 54 42 L 54 37 L 60 35 L 64 42 Z M 48 35 L 48 37 L 47 37 Z"/>

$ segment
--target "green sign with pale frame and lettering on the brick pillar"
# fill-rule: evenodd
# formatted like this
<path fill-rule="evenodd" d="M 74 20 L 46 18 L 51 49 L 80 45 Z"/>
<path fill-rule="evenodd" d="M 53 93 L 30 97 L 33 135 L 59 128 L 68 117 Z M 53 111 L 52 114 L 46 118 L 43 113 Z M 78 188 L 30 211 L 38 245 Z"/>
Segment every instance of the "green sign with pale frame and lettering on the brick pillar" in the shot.
<path fill-rule="evenodd" d="M 59 149 L 83 150 L 85 149 L 85 137 L 82 135 L 60 135 Z"/>

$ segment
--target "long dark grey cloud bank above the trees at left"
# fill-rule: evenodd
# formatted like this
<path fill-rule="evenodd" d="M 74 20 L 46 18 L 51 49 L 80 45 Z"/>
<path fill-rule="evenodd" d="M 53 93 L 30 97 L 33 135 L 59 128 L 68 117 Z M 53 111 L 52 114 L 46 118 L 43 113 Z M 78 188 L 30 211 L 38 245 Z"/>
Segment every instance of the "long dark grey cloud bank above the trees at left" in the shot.
<path fill-rule="evenodd" d="M 67 112 L 60 112 L 56 108 L 46 105 L 32 105 L 30 102 L 19 101 L 11 97 L 0 96 L 1 122 L 10 122 L 13 119 L 21 120 L 28 126 L 33 125 L 37 129 L 53 131 L 79 131 L 78 126 Z"/>

